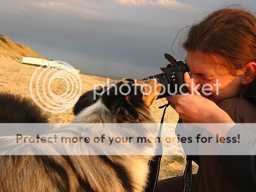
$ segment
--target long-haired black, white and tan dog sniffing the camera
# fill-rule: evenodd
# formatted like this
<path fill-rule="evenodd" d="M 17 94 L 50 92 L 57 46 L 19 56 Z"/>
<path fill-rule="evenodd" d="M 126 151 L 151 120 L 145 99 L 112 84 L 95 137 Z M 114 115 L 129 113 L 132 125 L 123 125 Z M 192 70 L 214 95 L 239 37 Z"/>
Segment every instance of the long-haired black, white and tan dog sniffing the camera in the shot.
<path fill-rule="evenodd" d="M 153 123 L 149 106 L 160 93 L 159 81 L 138 81 L 136 86 L 134 83 L 124 79 L 115 82 L 115 86 L 106 86 L 104 91 L 99 88 L 84 93 L 74 106 L 76 117 L 72 123 Z M 156 92 L 150 93 L 149 86 L 144 85 L 157 86 Z M 130 93 L 122 94 L 129 87 Z M 95 95 L 95 91 L 103 93 Z M 37 106 L 33 108 L 38 110 Z M 77 130 L 66 126 L 60 132 L 54 131 L 72 134 Z M 37 148 L 45 150 L 43 145 Z M 22 150 L 19 146 L 16 149 Z M 2 155 L 0 189 L 6 192 L 142 192 L 147 184 L 148 160 L 150 157 L 145 155 Z"/>

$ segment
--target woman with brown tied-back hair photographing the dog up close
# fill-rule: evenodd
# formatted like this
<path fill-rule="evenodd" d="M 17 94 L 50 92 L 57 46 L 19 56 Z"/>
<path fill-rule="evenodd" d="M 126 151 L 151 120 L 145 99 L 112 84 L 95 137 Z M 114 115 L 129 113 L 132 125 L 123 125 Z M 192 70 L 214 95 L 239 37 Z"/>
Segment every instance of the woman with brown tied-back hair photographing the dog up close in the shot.
<path fill-rule="evenodd" d="M 239 126 L 235 123 L 256 123 L 256 17 L 232 8 L 212 12 L 190 28 L 183 47 L 191 71 L 184 74 L 190 94 L 168 98 L 179 122 L 229 123 L 221 128 L 205 127 L 224 137 L 236 134 Z M 216 82 L 221 84 L 218 89 Z M 197 91 L 191 89 L 192 84 L 200 84 Z M 213 87 L 210 95 L 202 92 L 205 84 Z M 193 175 L 193 192 L 256 191 L 254 156 L 191 158 L 199 165 Z M 158 182 L 156 191 L 183 192 L 183 186 L 182 177 L 168 178 Z"/>

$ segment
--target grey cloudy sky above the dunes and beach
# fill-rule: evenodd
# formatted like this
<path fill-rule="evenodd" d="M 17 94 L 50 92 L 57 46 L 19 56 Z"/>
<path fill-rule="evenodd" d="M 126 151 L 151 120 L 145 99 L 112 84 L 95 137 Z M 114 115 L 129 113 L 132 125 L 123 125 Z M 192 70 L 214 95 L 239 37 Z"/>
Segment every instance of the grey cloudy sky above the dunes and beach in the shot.
<path fill-rule="evenodd" d="M 81 72 L 142 79 L 160 73 L 180 29 L 230 4 L 256 10 L 255 0 L 0 0 L 0 34 Z"/>

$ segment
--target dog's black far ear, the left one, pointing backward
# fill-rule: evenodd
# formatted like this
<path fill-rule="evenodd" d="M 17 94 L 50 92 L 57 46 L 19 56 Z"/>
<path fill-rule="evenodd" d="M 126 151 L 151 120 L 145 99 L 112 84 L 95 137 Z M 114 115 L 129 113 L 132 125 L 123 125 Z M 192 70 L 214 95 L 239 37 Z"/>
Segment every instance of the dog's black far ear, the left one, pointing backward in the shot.
<path fill-rule="evenodd" d="M 89 106 L 92 106 L 94 103 L 96 103 L 99 100 L 100 95 L 95 94 L 94 91 L 101 93 L 102 88 L 99 88 L 97 90 L 90 90 L 82 94 L 73 107 L 74 115 L 78 115 L 83 109 Z M 95 94 L 95 98 L 94 98 L 94 94 Z"/>

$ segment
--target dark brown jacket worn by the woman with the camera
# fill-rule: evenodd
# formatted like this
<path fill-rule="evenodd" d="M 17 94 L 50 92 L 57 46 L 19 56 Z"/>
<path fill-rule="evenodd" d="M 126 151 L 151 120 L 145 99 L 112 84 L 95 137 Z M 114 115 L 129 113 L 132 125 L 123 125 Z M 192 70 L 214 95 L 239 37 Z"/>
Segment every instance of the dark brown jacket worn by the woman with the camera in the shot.
<path fill-rule="evenodd" d="M 244 93 L 243 98 L 234 97 L 219 103 L 236 123 L 256 123 L 256 84 Z M 182 120 L 179 120 L 182 122 Z M 176 127 L 176 135 L 181 131 Z M 239 127 L 234 126 L 228 136 L 237 136 Z M 193 134 L 187 131 L 188 135 Z M 250 148 L 256 144 L 248 141 Z M 254 146 L 252 146 L 254 145 Z M 189 147 L 182 144 L 184 152 Z M 225 144 L 222 149 L 225 149 Z M 243 146 L 244 149 L 248 146 Z M 221 150 L 222 150 L 221 149 Z M 195 192 L 250 192 L 256 191 L 256 156 L 190 156 L 199 165 L 192 187 Z"/>

